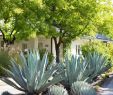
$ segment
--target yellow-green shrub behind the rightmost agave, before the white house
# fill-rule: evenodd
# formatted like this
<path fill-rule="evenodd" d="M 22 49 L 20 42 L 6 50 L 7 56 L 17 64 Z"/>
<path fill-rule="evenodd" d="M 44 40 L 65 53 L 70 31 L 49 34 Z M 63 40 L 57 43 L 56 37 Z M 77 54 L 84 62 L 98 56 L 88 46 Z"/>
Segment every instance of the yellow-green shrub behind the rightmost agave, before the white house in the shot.
<path fill-rule="evenodd" d="M 113 61 L 113 44 L 103 43 L 101 41 L 90 41 L 82 46 L 82 53 L 87 56 L 88 53 L 97 52 L 106 56 L 110 61 Z"/>

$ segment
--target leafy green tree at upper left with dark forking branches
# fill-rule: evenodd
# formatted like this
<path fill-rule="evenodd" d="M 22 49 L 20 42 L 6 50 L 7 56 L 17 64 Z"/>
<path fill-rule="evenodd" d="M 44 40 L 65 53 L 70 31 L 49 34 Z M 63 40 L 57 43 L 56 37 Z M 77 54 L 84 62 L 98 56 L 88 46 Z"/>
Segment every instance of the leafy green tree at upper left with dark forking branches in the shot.
<path fill-rule="evenodd" d="M 26 39 L 33 33 L 26 18 L 30 10 L 24 14 L 23 3 L 18 6 L 15 0 L 1 0 L 0 9 L 0 32 L 6 46 L 13 44 L 15 40 Z"/>

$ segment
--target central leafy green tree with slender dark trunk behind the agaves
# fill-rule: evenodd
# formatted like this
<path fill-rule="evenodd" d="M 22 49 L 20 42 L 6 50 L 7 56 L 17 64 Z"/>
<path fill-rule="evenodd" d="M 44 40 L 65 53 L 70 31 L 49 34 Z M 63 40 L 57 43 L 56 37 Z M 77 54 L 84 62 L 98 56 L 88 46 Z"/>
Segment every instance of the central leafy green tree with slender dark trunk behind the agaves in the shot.
<path fill-rule="evenodd" d="M 111 11 L 110 7 L 108 9 L 110 5 L 109 1 L 104 0 L 42 1 L 47 13 L 45 23 L 49 27 L 46 35 L 50 35 L 55 42 L 57 62 L 60 61 L 59 53 L 61 44 L 71 42 L 77 36 L 101 32 L 99 31 L 100 28 L 97 30 L 97 26 L 95 25 L 97 24 L 96 20 L 99 19 L 97 16 L 101 16 L 101 12 Z M 107 3 L 107 5 L 103 3 Z M 104 9 L 105 7 L 107 9 Z"/>

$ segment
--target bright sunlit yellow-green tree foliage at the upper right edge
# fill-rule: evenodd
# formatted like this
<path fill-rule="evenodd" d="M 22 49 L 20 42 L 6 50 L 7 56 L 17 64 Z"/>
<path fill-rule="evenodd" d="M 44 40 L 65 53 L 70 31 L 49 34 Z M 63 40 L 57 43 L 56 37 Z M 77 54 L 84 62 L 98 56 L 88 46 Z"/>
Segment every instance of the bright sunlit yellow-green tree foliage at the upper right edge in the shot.
<path fill-rule="evenodd" d="M 95 17 L 94 25 L 98 33 L 113 38 L 113 0 L 105 1 L 101 3 L 101 10 Z"/>

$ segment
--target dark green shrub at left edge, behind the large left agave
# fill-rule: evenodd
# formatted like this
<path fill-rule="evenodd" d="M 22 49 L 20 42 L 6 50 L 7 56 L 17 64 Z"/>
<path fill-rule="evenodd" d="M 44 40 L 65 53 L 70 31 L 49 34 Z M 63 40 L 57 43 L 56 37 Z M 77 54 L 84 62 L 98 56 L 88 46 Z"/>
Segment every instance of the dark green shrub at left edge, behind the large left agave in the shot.
<path fill-rule="evenodd" d="M 9 69 L 10 66 L 10 57 L 8 55 L 8 52 L 0 51 L 0 76 L 6 75 L 3 68 Z"/>

